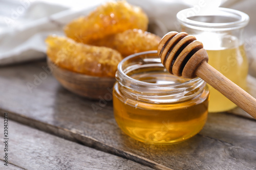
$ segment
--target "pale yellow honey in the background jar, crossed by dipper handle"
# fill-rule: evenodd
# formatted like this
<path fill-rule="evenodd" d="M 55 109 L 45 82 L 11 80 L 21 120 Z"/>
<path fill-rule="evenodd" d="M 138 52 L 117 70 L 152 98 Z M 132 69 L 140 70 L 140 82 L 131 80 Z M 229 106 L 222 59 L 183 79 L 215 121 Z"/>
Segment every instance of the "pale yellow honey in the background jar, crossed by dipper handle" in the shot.
<path fill-rule="evenodd" d="M 248 74 L 248 62 L 244 46 L 224 50 L 207 50 L 208 63 L 220 71 L 229 80 L 246 90 L 246 77 Z M 236 107 L 236 104 L 227 99 L 219 91 L 210 85 L 209 111 L 226 111 Z"/>

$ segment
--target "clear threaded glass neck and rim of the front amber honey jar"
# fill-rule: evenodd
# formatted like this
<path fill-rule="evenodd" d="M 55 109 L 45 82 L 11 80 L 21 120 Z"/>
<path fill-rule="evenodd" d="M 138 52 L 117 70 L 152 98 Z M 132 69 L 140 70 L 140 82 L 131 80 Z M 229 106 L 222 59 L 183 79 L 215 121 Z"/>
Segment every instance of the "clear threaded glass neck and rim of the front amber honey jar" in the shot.
<path fill-rule="evenodd" d="M 189 100 L 201 94 L 206 85 L 200 78 L 189 80 L 170 75 L 168 72 L 165 74 L 165 71 L 157 51 L 143 52 L 122 60 L 118 65 L 116 79 L 125 96 L 150 103 Z M 163 74 L 162 80 L 159 79 L 160 72 Z M 134 79 L 134 75 L 143 80 L 148 79 L 151 78 L 151 74 L 159 74 L 157 79 L 160 82 L 148 83 Z M 179 80 L 180 83 L 168 83 L 172 80 Z"/>

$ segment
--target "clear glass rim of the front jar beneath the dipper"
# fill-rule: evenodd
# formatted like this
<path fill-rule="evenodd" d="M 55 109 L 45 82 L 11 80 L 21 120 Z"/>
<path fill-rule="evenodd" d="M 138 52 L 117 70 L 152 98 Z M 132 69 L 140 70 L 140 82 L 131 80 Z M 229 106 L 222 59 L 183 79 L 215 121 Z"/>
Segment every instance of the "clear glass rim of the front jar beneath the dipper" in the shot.
<path fill-rule="evenodd" d="M 135 53 L 135 54 L 132 54 L 130 56 L 127 56 L 125 57 L 117 66 L 117 72 L 119 72 L 120 76 L 124 77 L 125 79 L 127 80 L 130 80 L 138 85 L 146 85 L 146 86 L 156 86 L 156 84 L 154 83 L 148 83 L 148 82 L 143 82 L 143 81 L 139 81 L 139 80 L 136 80 L 136 79 L 133 79 L 131 78 L 130 76 L 127 76 L 125 74 L 125 72 L 123 71 L 122 69 L 122 66 L 123 64 L 127 61 L 127 60 L 130 60 L 134 57 L 137 57 L 137 56 L 140 56 L 140 55 L 147 55 L 147 54 L 156 54 L 158 55 L 157 51 L 146 51 L 146 52 L 141 52 L 141 53 Z M 161 59 L 159 58 L 159 60 L 161 61 Z M 116 72 L 116 77 L 117 77 L 117 72 Z M 190 79 L 188 81 L 185 81 L 185 82 L 181 82 L 181 83 L 169 83 L 169 84 L 157 84 L 157 86 L 162 86 L 162 87 L 166 87 L 166 86 L 169 86 L 169 87 L 174 87 L 174 86 L 183 86 L 183 85 L 187 85 L 187 84 L 190 84 L 190 83 L 194 83 L 194 82 L 197 82 L 197 81 L 200 81 L 202 80 L 201 78 L 197 77 L 197 78 L 194 78 L 194 79 Z"/>

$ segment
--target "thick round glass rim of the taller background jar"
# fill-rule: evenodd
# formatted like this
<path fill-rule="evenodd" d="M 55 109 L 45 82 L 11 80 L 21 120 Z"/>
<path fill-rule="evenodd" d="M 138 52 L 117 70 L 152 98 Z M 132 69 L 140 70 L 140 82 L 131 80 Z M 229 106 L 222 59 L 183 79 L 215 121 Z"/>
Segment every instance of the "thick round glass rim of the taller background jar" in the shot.
<path fill-rule="evenodd" d="M 177 13 L 177 19 L 182 25 L 194 29 L 218 29 L 222 30 L 234 30 L 245 27 L 249 22 L 249 16 L 241 11 L 229 9 L 229 8 L 216 8 L 214 10 L 204 11 L 202 13 L 191 12 L 195 8 L 187 8 L 181 10 Z M 190 12 L 190 16 L 185 16 Z M 223 23 L 211 23 L 211 22 L 202 22 L 196 21 L 192 19 L 188 19 L 188 17 L 193 16 L 226 16 L 230 18 L 236 18 L 238 20 L 231 22 L 223 22 Z"/>

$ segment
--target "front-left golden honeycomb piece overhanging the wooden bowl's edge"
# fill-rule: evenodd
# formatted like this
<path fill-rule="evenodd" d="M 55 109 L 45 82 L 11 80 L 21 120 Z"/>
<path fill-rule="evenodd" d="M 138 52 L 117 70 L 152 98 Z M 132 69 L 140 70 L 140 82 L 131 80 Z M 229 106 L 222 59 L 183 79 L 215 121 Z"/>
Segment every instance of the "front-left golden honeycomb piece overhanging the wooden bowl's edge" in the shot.
<path fill-rule="evenodd" d="M 56 65 L 86 75 L 115 77 L 120 53 L 108 47 L 77 43 L 67 37 L 49 36 L 47 55 Z"/>

